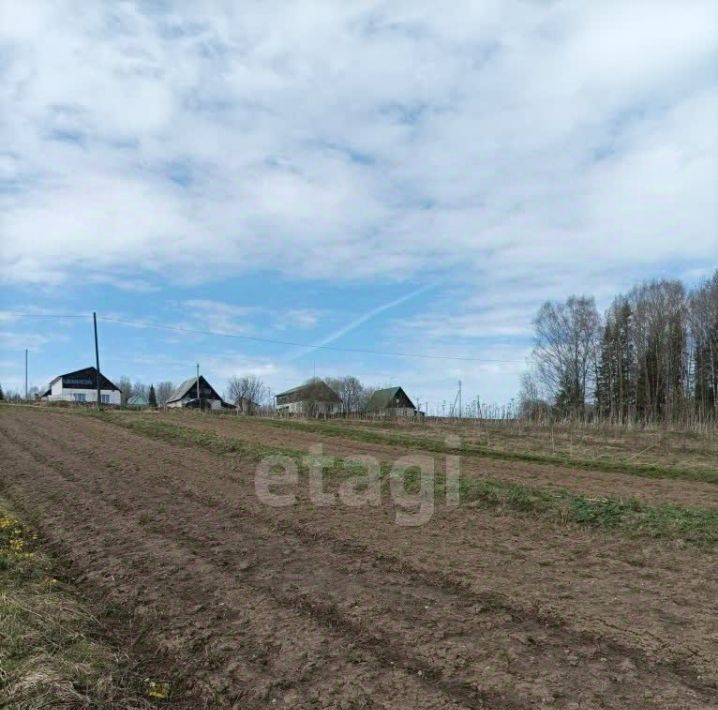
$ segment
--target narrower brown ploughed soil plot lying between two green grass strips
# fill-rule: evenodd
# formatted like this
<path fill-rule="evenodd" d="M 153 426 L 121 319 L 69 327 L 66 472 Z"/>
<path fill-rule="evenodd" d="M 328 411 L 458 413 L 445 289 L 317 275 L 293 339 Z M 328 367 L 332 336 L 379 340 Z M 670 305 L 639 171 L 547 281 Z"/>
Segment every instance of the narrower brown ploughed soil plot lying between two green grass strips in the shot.
<path fill-rule="evenodd" d="M 382 463 L 393 462 L 409 451 L 426 453 L 421 449 L 410 450 L 403 446 L 367 443 L 354 439 L 323 436 L 312 432 L 282 429 L 246 417 L 197 417 L 185 413 L 158 414 L 168 422 L 181 424 L 203 431 L 213 431 L 224 436 L 307 450 L 312 444 L 321 443 L 330 456 L 346 457 L 371 454 Z M 443 469 L 445 457 L 435 454 L 436 470 Z M 516 481 L 541 488 L 565 489 L 589 496 L 636 498 L 647 503 L 673 503 L 695 508 L 718 508 L 718 486 L 700 481 L 653 479 L 624 473 L 608 473 L 571 469 L 547 464 L 531 464 L 513 461 L 496 461 L 475 456 L 463 456 L 461 471 L 465 476 Z"/>

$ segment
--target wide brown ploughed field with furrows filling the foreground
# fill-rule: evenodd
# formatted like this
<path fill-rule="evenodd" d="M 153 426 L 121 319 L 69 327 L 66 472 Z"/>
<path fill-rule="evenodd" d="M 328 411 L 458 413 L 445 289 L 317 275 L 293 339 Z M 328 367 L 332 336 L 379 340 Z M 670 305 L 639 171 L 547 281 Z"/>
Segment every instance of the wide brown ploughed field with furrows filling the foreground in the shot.
<path fill-rule="evenodd" d="M 41 411 L 0 431 L 5 493 L 159 653 L 176 707 L 716 707 L 707 553 L 477 510 L 268 508 L 237 456 Z"/>

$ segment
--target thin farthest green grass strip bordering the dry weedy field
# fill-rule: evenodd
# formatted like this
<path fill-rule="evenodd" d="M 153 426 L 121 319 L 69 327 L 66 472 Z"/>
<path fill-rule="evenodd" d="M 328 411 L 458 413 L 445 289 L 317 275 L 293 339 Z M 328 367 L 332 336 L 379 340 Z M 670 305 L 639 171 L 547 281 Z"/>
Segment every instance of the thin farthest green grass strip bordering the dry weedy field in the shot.
<path fill-rule="evenodd" d="M 355 428 L 346 425 L 332 424 L 331 422 L 308 422 L 299 420 L 278 420 L 255 418 L 253 421 L 272 426 L 278 429 L 293 429 L 295 431 L 323 434 L 325 436 L 345 437 L 356 441 L 366 441 L 374 444 L 389 444 L 404 446 L 411 449 L 421 449 L 433 453 L 459 453 L 465 456 L 496 459 L 500 461 L 522 461 L 532 464 L 552 466 L 566 466 L 591 471 L 606 471 L 608 473 L 623 473 L 642 478 L 670 478 L 684 481 L 701 481 L 703 483 L 718 484 L 718 466 L 715 470 L 694 470 L 676 467 L 666 467 L 657 464 L 639 464 L 624 461 L 606 461 L 604 459 L 584 459 L 568 456 L 566 454 L 537 453 L 530 451 L 505 451 L 488 446 L 472 445 L 462 446 L 458 449 L 449 449 L 440 439 L 417 437 L 407 434 L 386 433 L 381 431 L 368 431 L 364 428 Z"/>

